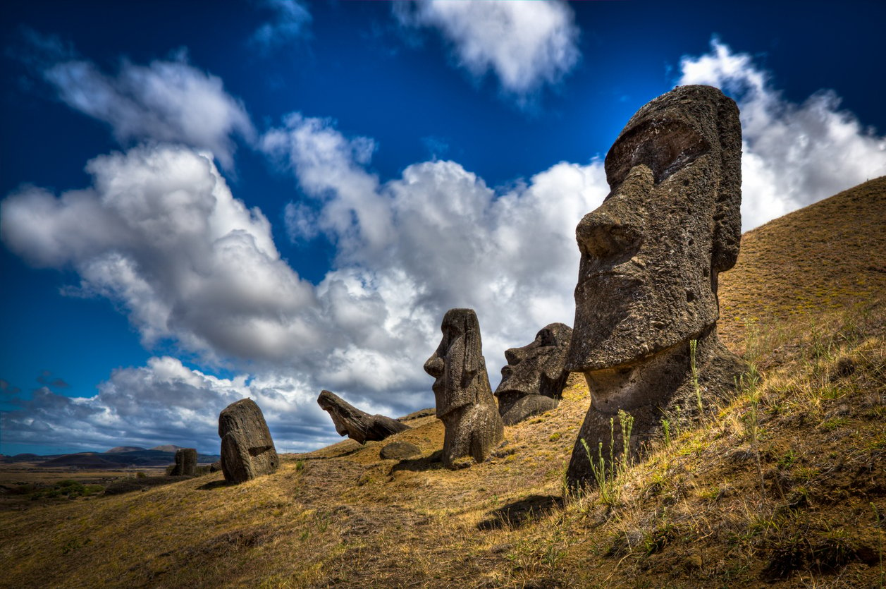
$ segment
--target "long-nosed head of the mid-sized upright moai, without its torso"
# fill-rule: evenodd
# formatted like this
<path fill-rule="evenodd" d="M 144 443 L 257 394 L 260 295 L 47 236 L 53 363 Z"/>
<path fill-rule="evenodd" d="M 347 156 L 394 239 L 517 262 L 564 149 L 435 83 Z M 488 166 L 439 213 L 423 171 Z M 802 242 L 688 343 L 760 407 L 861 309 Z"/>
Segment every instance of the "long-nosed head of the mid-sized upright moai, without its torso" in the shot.
<path fill-rule="evenodd" d="M 450 309 L 440 327 L 443 339 L 424 363 L 424 372 L 434 377 L 432 389 L 437 417 L 478 402 L 478 395 L 491 395 L 480 325 L 471 309 Z"/>

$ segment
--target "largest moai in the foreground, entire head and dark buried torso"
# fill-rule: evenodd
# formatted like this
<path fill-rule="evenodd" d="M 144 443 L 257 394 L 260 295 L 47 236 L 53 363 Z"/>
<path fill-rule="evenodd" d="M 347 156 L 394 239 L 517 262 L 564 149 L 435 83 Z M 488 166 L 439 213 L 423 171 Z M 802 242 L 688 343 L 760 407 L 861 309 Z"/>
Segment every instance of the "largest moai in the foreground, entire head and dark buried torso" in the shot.
<path fill-rule="evenodd" d="M 743 372 L 716 331 L 718 275 L 733 267 L 741 237 L 741 165 L 738 107 L 710 86 L 652 100 L 606 155 L 610 193 L 576 228 L 566 368 L 584 373 L 591 408 L 571 486 L 594 480 L 585 444 L 595 460 L 599 444 L 609 459 L 610 439 L 615 457 L 625 450 L 619 410 L 633 417 L 627 452 L 636 456 L 663 419 L 697 415 Z"/>

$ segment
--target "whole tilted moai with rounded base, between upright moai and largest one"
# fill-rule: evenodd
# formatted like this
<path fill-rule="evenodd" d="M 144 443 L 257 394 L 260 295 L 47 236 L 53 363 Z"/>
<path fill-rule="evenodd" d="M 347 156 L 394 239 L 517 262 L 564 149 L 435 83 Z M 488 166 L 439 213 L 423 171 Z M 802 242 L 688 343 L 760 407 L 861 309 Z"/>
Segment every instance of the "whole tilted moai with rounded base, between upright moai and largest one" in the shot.
<path fill-rule="evenodd" d="M 506 426 L 550 411 L 560 403 L 569 378 L 563 365 L 571 336 L 570 326 L 552 323 L 542 327 L 532 343 L 505 351 L 508 365 L 501 368 L 495 397 Z"/>

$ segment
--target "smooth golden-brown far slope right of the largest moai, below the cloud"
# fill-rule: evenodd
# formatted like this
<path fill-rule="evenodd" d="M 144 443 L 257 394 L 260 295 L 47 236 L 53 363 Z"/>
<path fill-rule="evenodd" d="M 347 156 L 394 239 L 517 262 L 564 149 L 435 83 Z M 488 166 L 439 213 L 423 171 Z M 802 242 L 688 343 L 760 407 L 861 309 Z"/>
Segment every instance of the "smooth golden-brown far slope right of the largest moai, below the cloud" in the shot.
<path fill-rule="evenodd" d="M 742 235 L 738 263 L 720 275 L 719 334 L 743 352 L 747 331 L 810 321 L 886 292 L 886 177 Z"/>

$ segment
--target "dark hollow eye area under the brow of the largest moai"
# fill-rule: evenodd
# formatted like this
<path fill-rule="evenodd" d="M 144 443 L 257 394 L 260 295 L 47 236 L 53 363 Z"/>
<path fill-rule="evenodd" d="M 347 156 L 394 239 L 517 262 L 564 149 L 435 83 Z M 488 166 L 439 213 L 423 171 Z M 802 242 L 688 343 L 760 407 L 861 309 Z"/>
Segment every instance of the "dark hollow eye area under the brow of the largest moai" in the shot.
<path fill-rule="evenodd" d="M 685 122 L 641 122 L 623 134 L 606 154 L 606 179 L 614 188 L 625 181 L 634 166 L 645 164 L 658 184 L 710 149 L 704 137 Z"/>

